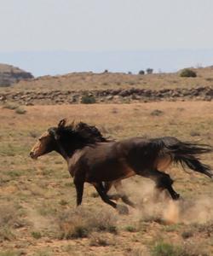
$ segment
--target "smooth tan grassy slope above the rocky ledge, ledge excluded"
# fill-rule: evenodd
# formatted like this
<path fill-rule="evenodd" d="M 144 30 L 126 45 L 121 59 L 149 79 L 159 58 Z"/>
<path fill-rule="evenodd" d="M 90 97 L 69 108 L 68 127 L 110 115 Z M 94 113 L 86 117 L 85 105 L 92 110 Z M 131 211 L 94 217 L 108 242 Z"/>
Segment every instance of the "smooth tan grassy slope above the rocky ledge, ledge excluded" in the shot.
<path fill-rule="evenodd" d="M 181 78 L 179 73 L 66 73 L 58 76 L 43 76 L 20 80 L 7 88 L 11 91 L 82 91 L 119 89 L 180 89 L 213 85 L 213 67 L 194 68 L 196 78 Z M 2 91 L 4 89 L 2 88 Z"/>

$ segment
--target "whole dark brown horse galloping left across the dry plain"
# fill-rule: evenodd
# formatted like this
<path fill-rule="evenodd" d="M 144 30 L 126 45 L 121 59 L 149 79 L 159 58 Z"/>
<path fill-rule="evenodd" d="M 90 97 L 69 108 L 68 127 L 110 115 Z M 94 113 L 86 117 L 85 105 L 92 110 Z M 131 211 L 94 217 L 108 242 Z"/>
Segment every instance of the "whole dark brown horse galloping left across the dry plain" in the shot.
<path fill-rule="evenodd" d="M 113 142 L 98 134 L 97 129 L 94 130 L 95 137 L 85 132 L 84 128 L 79 124 L 66 125 L 63 119 L 57 127 L 43 133 L 30 153 L 33 159 L 37 159 L 55 150 L 66 159 L 68 170 L 74 178 L 77 205 L 82 202 L 83 183 L 88 182 L 95 186 L 103 201 L 114 208 L 118 207 L 108 197 L 107 189 L 112 183 L 119 184 L 122 179 L 136 174 L 153 179 L 158 189 L 167 189 L 171 198 L 177 200 L 180 195 L 172 188 L 173 180 L 164 173 L 174 162 L 208 177 L 213 176 L 210 166 L 204 165 L 198 158 L 199 154 L 212 151 L 208 145 L 183 143 L 175 137 L 133 137 Z M 132 204 L 124 194 L 123 199 Z"/>

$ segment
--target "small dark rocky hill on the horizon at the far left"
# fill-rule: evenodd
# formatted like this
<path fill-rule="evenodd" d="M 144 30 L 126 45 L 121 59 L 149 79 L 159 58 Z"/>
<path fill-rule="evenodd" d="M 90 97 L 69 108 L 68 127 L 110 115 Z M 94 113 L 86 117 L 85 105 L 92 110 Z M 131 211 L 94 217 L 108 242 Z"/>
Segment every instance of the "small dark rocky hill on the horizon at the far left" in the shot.
<path fill-rule="evenodd" d="M 32 73 L 26 72 L 19 67 L 0 63 L 0 86 L 6 87 L 20 80 L 33 79 Z"/>

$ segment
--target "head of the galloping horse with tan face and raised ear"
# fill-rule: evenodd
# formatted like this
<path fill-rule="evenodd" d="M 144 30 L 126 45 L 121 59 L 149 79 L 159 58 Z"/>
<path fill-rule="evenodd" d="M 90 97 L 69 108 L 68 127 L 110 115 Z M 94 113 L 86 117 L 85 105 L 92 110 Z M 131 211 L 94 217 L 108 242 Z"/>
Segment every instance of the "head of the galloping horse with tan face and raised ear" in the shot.
<path fill-rule="evenodd" d="M 66 119 L 60 120 L 58 127 L 51 127 L 38 138 L 37 143 L 32 147 L 30 156 L 37 159 L 43 154 L 48 154 L 57 149 L 56 140 L 59 139 L 58 131 L 66 125 Z"/>

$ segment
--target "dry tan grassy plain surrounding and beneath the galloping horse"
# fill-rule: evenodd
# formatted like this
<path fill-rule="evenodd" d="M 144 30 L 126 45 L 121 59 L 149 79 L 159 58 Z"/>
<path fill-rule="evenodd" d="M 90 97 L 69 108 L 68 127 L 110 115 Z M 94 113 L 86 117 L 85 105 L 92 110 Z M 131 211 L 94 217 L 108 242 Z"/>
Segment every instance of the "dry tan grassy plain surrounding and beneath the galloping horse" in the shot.
<path fill-rule="evenodd" d="M 60 155 L 29 158 L 39 135 L 60 119 L 96 125 L 107 137 L 178 137 L 213 145 L 213 102 L 149 102 L 0 108 L 0 256 L 213 255 L 213 183 L 173 166 L 182 200 L 153 200 L 153 183 L 124 181 L 137 204 L 120 215 L 85 185 L 75 189 Z M 203 156 L 213 166 L 212 154 Z M 187 170 L 186 170 L 187 171 Z M 162 251 L 167 254 L 160 254 Z M 168 253 L 169 252 L 169 253 Z M 178 254 L 179 253 L 179 254 Z M 185 254 L 184 254 L 185 253 Z"/>

